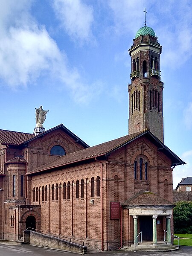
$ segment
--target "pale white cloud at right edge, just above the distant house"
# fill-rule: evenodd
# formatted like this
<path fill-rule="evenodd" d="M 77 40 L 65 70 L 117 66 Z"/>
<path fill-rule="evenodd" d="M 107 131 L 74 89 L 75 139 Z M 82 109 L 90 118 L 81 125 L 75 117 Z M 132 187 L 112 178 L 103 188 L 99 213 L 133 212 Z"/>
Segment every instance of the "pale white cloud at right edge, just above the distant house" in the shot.
<path fill-rule="evenodd" d="M 182 178 L 192 177 L 192 150 L 184 152 L 181 159 L 186 164 L 176 166 L 173 170 L 173 189 L 181 182 Z"/>

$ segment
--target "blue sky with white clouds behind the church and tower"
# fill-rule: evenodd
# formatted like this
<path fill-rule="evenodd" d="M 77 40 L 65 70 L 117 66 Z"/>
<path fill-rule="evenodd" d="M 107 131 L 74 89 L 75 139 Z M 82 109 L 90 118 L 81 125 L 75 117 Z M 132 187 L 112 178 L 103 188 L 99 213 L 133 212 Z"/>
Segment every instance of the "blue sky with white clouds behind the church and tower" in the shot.
<path fill-rule="evenodd" d="M 160 58 L 164 143 L 192 176 L 192 3 L 190 0 L 1 0 L 1 129 L 32 133 L 35 108 L 46 130 L 63 123 L 88 145 L 128 134 L 128 49 L 154 29 Z"/>

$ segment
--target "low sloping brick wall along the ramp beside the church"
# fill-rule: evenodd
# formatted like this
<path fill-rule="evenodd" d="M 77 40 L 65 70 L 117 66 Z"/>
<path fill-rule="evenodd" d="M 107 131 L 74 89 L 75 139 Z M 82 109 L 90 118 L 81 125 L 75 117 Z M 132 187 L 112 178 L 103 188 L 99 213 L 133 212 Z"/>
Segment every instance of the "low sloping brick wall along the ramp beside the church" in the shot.
<path fill-rule="evenodd" d="M 24 244 L 32 244 L 73 253 L 87 253 L 87 246 L 75 244 L 70 241 L 59 239 L 54 236 L 47 236 L 31 230 L 24 231 Z"/>

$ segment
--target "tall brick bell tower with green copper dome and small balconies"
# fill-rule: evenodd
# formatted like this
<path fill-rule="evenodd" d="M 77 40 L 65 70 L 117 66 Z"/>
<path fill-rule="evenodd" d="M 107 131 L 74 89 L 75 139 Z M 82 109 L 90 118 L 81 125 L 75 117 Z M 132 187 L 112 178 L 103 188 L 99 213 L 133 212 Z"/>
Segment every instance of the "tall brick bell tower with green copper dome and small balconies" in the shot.
<path fill-rule="evenodd" d="M 149 128 L 163 142 L 163 82 L 160 81 L 162 46 L 154 30 L 148 26 L 140 28 L 133 41 L 129 49 L 129 134 Z"/>

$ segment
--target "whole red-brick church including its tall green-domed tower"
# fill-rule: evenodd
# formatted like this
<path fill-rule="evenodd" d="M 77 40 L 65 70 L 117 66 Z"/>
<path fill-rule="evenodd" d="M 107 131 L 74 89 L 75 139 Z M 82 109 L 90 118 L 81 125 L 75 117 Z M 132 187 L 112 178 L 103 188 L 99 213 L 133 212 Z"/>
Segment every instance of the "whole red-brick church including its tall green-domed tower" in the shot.
<path fill-rule="evenodd" d="M 140 28 L 124 137 L 89 147 L 63 124 L 45 131 L 37 117 L 33 134 L 0 130 L 0 239 L 31 227 L 116 250 L 137 245 L 140 232 L 158 247 L 166 230 L 172 243 L 172 172 L 184 162 L 163 143 L 161 52 L 154 30 Z"/>

